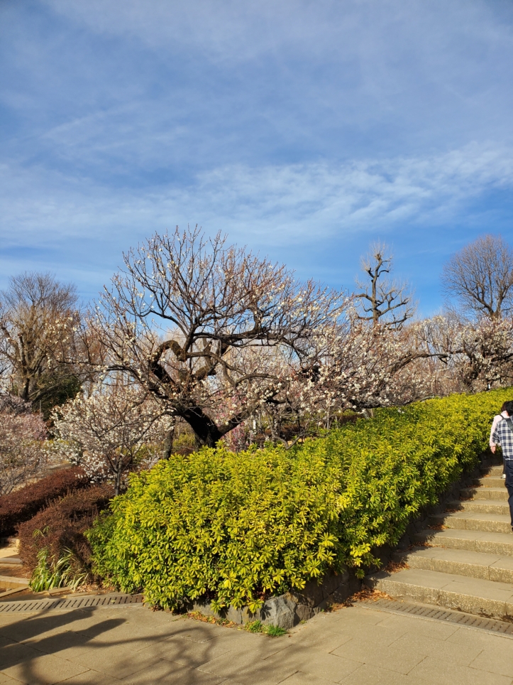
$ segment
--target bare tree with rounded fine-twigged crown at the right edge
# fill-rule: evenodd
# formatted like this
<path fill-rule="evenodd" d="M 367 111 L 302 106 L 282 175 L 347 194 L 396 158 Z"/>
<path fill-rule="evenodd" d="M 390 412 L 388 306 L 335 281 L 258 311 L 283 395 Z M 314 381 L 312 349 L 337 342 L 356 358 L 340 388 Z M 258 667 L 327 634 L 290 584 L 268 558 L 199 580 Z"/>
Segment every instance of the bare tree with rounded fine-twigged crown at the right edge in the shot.
<path fill-rule="evenodd" d="M 482 235 L 453 254 L 442 283 L 464 311 L 501 318 L 513 306 L 513 249 L 500 235 Z"/>

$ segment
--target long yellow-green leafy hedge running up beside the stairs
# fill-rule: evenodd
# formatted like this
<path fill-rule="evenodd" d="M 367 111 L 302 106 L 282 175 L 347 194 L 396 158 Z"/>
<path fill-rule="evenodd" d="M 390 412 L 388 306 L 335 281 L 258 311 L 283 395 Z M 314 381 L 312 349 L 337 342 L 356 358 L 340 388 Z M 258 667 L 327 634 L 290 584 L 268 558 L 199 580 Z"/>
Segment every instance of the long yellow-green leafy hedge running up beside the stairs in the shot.
<path fill-rule="evenodd" d="M 286 450 L 222 446 L 172 455 L 131 477 L 87 533 L 96 572 L 165 608 L 209 598 L 257 610 L 373 549 L 477 463 L 511 390 L 431 399 Z"/>

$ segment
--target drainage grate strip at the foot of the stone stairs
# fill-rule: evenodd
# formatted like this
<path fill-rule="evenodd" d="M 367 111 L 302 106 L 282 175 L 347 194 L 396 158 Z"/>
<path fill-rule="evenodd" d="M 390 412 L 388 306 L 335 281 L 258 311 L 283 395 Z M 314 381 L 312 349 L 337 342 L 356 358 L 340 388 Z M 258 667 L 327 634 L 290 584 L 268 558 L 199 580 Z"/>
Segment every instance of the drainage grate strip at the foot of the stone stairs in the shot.
<path fill-rule="evenodd" d="M 429 607 L 424 604 L 412 604 L 409 602 L 399 602 L 397 600 L 380 599 L 370 602 L 361 602 L 358 606 L 366 609 L 377 608 L 392 613 L 408 614 L 410 616 L 421 616 L 438 621 L 458 623 L 459 625 L 480 628 L 481 630 L 500 632 L 503 635 L 513 635 L 513 623 L 500 621 L 495 618 L 482 618 L 481 616 L 464 614 L 460 611 L 448 611 L 446 609 Z"/>

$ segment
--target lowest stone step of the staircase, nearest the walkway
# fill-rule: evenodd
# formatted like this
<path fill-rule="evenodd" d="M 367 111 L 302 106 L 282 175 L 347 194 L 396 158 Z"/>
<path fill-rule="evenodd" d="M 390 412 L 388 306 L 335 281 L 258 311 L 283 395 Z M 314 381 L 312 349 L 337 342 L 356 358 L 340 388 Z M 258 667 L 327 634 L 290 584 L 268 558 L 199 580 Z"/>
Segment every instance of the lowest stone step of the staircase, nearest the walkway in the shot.
<path fill-rule="evenodd" d="M 379 571 L 365 585 L 397 599 L 413 600 L 502 620 L 513 619 L 513 584 L 468 578 L 453 573 L 407 568 Z"/>

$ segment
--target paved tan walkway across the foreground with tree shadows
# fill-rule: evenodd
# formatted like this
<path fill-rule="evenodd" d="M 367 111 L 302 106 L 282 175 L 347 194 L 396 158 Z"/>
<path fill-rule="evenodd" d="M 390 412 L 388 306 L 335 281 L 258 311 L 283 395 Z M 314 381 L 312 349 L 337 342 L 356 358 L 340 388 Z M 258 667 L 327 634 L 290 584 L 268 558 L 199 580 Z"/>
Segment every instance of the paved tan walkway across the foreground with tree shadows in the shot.
<path fill-rule="evenodd" d="M 513 638 L 362 605 L 277 638 L 140 605 L 3 615 L 0 685 L 18 682 L 513 685 Z"/>

